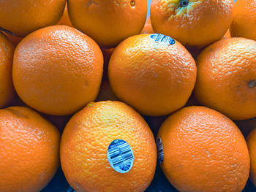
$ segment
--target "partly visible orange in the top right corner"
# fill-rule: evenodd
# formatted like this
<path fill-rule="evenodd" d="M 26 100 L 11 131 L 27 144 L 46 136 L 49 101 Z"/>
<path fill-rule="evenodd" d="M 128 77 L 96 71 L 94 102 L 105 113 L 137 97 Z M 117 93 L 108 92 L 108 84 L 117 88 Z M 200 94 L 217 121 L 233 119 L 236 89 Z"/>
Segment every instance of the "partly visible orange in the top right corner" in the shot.
<path fill-rule="evenodd" d="M 234 7 L 233 21 L 230 26 L 232 37 L 245 37 L 256 41 L 256 1 L 238 0 Z"/>

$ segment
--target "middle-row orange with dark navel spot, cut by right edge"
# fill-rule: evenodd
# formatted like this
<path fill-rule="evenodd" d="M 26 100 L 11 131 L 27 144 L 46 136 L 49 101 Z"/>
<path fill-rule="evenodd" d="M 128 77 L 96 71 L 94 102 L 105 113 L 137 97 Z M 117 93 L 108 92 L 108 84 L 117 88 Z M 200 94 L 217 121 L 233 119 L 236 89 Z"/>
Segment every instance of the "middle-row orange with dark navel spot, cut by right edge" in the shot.
<path fill-rule="evenodd" d="M 256 116 L 256 41 L 222 39 L 197 58 L 195 96 L 233 120 Z"/>

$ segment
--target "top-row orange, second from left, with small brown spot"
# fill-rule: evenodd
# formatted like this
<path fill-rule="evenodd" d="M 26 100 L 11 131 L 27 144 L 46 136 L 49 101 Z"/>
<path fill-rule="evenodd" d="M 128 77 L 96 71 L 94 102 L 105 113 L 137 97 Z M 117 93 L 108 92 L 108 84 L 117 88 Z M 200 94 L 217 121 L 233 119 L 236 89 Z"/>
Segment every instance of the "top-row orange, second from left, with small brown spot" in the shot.
<path fill-rule="evenodd" d="M 146 22 L 147 0 L 68 0 L 67 7 L 73 26 L 101 47 L 140 34 Z"/>

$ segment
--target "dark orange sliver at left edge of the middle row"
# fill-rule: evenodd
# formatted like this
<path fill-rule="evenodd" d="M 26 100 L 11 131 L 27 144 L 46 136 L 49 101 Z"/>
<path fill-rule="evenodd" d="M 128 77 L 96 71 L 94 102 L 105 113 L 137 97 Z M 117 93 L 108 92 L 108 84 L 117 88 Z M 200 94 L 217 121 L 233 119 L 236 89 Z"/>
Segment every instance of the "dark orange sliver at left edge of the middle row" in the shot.
<path fill-rule="evenodd" d="M 12 58 L 14 47 L 0 31 L 0 108 L 6 107 L 14 97 L 12 85 Z"/>

